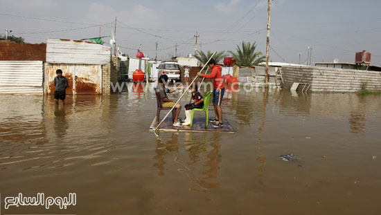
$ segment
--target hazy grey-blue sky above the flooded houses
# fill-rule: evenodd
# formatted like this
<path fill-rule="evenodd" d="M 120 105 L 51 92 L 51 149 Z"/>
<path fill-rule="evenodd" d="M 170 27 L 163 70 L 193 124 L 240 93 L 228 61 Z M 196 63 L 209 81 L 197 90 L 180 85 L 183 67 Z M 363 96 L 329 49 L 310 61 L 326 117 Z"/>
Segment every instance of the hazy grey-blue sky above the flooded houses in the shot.
<path fill-rule="evenodd" d="M 308 47 L 314 62 L 355 62 L 355 52 L 372 53 L 381 65 L 381 1 L 272 1 L 269 57 L 272 62 L 305 64 Z M 117 18 L 116 18 L 117 17 Z M 140 48 L 158 59 L 186 56 L 197 50 L 236 50 L 242 41 L 256 42 L 265 55 L 267 0 L 0 0 L 0 35 L 87 39 L 111 36 L 135 56 Z M 109 43 L 110 37 L 103 38 Z M 107 44 L 106 44 L 107 45 Z"/>

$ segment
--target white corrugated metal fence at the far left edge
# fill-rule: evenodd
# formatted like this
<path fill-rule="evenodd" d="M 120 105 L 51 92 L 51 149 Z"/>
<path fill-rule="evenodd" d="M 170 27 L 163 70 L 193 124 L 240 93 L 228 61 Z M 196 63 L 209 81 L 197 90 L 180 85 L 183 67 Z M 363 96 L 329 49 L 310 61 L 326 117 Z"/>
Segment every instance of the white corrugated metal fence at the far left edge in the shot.
<path fill-rule="evenodd" d="M 43 62 L 0 61 L 0 93 L 43 93 Z"/>

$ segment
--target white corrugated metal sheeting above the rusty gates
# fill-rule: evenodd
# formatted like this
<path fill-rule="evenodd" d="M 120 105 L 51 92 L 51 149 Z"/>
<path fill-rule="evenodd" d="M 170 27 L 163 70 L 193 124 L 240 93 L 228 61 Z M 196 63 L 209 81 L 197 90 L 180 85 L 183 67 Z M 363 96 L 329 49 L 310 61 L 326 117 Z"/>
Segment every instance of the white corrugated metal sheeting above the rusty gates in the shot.
<path fill-rule="evenodd" d="M 69 39 L 46 40 L 46 62 L 51 64 L 109 64 L 111 48 Z"/>

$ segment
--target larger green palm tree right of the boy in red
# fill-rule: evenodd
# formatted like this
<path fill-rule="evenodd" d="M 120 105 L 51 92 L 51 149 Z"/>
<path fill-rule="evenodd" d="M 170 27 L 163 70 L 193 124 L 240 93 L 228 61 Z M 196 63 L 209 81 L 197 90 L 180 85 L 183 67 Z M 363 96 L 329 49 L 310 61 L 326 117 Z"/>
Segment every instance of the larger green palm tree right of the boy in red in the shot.
<path fill-rule="evenodd" d="M 258 64 L 265 62 L 265 56 L 261 56 L 262 52 L 256 52 L 256 42 L 250 44 L 242 41 L 242 49 L 237 45 L 237 53 L 233 53 L 231 50 L 229 53 L 233 55 L 233 59 L 236 59 L 237 66 L 257 66 Z"/>

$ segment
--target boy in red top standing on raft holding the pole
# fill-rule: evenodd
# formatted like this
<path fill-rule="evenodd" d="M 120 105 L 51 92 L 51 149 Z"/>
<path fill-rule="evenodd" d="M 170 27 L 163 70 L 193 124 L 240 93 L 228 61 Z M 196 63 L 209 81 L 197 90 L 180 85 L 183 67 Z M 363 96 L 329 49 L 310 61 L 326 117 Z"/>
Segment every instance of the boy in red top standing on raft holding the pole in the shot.
<path fill-rule="evenodd" d="M 208 68 L 212 71 L 209 75 L 204 75 L 201 72 L 197 73 L 197 75 L 213 79 L 213 106 L 215 112 L 215 118 L 210 120 L 213 123 L 213 127 L 223 127 L 222 123 L 222 98 L 224 97 L 225 87 L 224 87 L 224 79 L 222 78 L 222 68 L 220 65 L 215 64 L 215 60 L 212 58 L 208 63 Z"/>

